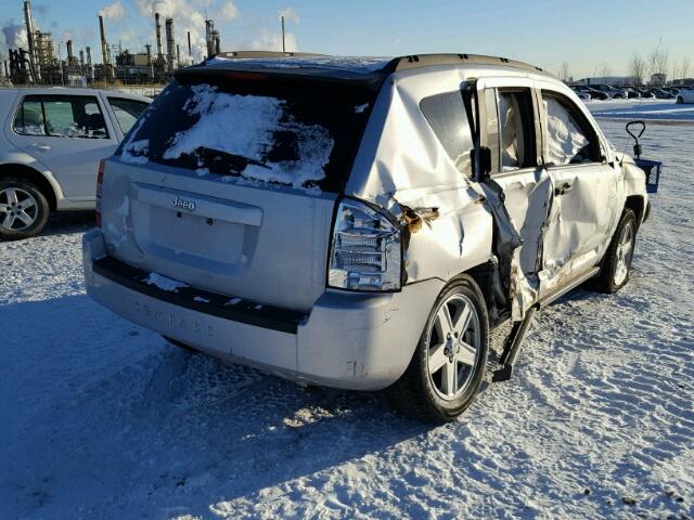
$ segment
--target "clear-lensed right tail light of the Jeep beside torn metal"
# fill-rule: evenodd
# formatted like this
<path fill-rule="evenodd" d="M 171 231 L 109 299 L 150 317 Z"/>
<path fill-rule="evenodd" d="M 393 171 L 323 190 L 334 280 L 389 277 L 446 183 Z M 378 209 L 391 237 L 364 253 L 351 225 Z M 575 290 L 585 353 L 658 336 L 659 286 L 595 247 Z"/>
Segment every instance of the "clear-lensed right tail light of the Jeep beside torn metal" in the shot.
<path fill-rule="evenodd" d="M 394 291 L 401 280 L 399 224 L 364 203 L 343 199 L 333 225 L 329 287 Z"/>

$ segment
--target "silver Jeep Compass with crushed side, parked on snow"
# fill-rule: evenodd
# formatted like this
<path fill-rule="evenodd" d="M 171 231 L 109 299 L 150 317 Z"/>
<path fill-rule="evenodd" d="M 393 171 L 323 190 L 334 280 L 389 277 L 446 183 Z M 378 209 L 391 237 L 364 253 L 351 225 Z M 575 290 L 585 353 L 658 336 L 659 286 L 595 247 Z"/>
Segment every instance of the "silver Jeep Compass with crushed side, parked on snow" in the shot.
<path fill-rule="evenodd" d="M 87 290 L 174 344 L 460 415 L 511 321 L 629 278 L 648 214 L 542 69 L 472 54 L 220 54 L 176 73 L 99 172 Z M 496 362 L 496 360 L 494 360 Z"/>

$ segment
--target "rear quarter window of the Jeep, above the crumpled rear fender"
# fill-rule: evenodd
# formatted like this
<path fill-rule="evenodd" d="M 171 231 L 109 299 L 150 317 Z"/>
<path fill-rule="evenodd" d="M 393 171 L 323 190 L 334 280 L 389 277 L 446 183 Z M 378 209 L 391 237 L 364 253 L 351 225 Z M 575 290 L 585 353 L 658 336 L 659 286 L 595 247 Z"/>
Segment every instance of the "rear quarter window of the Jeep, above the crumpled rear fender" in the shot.
<path fill-rule="evenodd" d="M 474 144 L 461 92 L 425 98 L 420 107 L 455 167 L 467 176 L 472 174 L 471 151 Z"/>

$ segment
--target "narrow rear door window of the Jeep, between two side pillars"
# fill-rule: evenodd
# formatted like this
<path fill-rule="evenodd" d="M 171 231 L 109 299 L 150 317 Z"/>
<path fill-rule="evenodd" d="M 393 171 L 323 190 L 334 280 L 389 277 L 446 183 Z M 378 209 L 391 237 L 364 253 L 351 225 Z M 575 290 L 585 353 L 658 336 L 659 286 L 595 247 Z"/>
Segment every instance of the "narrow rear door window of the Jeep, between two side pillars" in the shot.
<path fill-rule="evenodd" d="M 499 92 L 498 109 L 501 171 L 536 166 L 530 91 Z"/>

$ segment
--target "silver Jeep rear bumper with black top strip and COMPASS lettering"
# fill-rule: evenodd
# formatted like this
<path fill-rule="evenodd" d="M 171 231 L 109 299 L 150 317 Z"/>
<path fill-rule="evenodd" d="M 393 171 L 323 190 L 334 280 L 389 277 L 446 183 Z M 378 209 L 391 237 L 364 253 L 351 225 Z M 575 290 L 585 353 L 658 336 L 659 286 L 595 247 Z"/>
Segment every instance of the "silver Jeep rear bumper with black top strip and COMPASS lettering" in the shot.
<path fill-rule="evenodd" d="M 106 256 L 98 230 L 83 237 L 82 262 L 87 292 L 131 322 L 229 362 L 355 390 L 385 388 L 402 375 L 444 286 L 434 280 L 394 294 L 326 290 L 301 313 L 149 285 L 149 273 Z"/>

